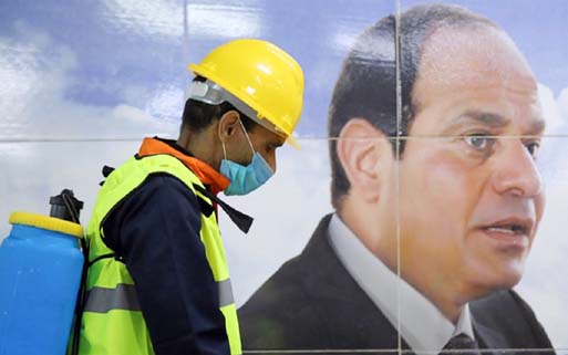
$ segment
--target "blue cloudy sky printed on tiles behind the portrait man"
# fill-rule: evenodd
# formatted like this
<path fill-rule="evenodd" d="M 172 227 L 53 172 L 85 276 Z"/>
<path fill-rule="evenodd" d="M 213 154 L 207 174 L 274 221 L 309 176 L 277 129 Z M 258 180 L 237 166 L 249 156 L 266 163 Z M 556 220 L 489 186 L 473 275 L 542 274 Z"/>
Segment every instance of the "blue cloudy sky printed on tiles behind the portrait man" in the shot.
<path fill-rule="evenodd" d="M 103 165 L 125 160 L 144 135 L 177 135 L 192 79 L 186 65 L 230 39 L 262 38 L 303 67 L 304 111 L 297 132 L 304 149 L 283 148 L 279 171 L 265 188 L 228 199 L 256 217 L 250 236 L 242 238 L 220 217 L 242 304 L 301 251 L 320 217 L 331 211 L 326 121 L 354 38 L 397 7 L 424 2 L 431 1 L 0 1 L 0 240 L 10 230 L 11 211 L 45 213 L 49 196 L 63 187 L 85 201 L 86 225 Z M 510 34 L 541 84 L 549 133 L 562 136 L 543 144 L 547 210 L 519 290 L 552 342 L 568 349 L 568 2 L 451 3 L 488 17 Z"/>

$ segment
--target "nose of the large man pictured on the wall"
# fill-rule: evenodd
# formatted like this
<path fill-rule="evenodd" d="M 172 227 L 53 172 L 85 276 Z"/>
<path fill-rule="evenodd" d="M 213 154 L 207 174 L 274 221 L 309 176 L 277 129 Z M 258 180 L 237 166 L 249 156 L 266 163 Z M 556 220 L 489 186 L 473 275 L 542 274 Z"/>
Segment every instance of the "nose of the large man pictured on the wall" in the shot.
<path fill-rule="evenodd" d="M 498 194 L 510 194 L 518 197 L 536 197 L 543 190 L 543 179 L 535 159 L 520 139 L 509 140 L 504 146 L 500 159 L 493 176 L 493 185 Z"/>

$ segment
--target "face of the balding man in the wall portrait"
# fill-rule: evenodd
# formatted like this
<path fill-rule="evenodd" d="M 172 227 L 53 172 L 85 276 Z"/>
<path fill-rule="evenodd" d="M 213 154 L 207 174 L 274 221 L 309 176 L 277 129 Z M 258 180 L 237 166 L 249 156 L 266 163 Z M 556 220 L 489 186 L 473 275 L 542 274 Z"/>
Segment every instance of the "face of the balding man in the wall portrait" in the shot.
<path fill-rule="evenodd" d="M 440 29 L 413 103 L 399 170 L 402 275 L 455 301 L 515 285 L 544 209 L 530 69 L 497 30 Z"/>

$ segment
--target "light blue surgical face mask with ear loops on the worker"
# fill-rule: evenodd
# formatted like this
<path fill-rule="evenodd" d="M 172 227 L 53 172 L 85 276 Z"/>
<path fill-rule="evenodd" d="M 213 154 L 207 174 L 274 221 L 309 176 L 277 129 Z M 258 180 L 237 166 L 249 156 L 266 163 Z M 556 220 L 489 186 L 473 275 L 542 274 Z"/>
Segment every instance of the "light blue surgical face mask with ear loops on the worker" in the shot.
<path fill-rule="evenodd" d="M 247 130 L 245 129 L 245 126 L 242 126 L 240 119 L 239 123 L 240 127 L 245 132 L 245 135 L 247 136 L 250 149 L 252 150 L 252 160 L 247 166 L 227 160 L 225 143 L 221 142 L 225 159 L 221 160 L 220 174 L 225 175 L 230 180 L 229 186 L 225 189 L 225 195 L 227 196 L 247 195 L 259 188 L 273 175 L 272 169 L 265 160 L 265 158 L 262 158 L 258 152 L 255 152 L 252 143 L 250 142 Z"/>

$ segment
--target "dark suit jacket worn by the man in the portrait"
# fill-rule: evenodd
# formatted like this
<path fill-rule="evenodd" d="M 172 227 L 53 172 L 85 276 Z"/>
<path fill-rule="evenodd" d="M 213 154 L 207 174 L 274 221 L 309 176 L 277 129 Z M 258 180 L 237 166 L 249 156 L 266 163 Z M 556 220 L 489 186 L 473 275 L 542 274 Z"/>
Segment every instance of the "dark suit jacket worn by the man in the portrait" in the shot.
<path fill-rule="evenodd" d="M 302 253 L 286 262 L 239 309 L 245 351 L 396 352 L 395 327 L 351 278 L 331 248 L 330 219 L 331 215 L 324 217 Z M 474 332 L 483 348 L 551 348 L 530 307 L 512 290 L 472 302 L 471 311 Z M 404 340 L 401 345 L 409 349 Z M 554 354 L 554 351 L 539 354 Z"/>

